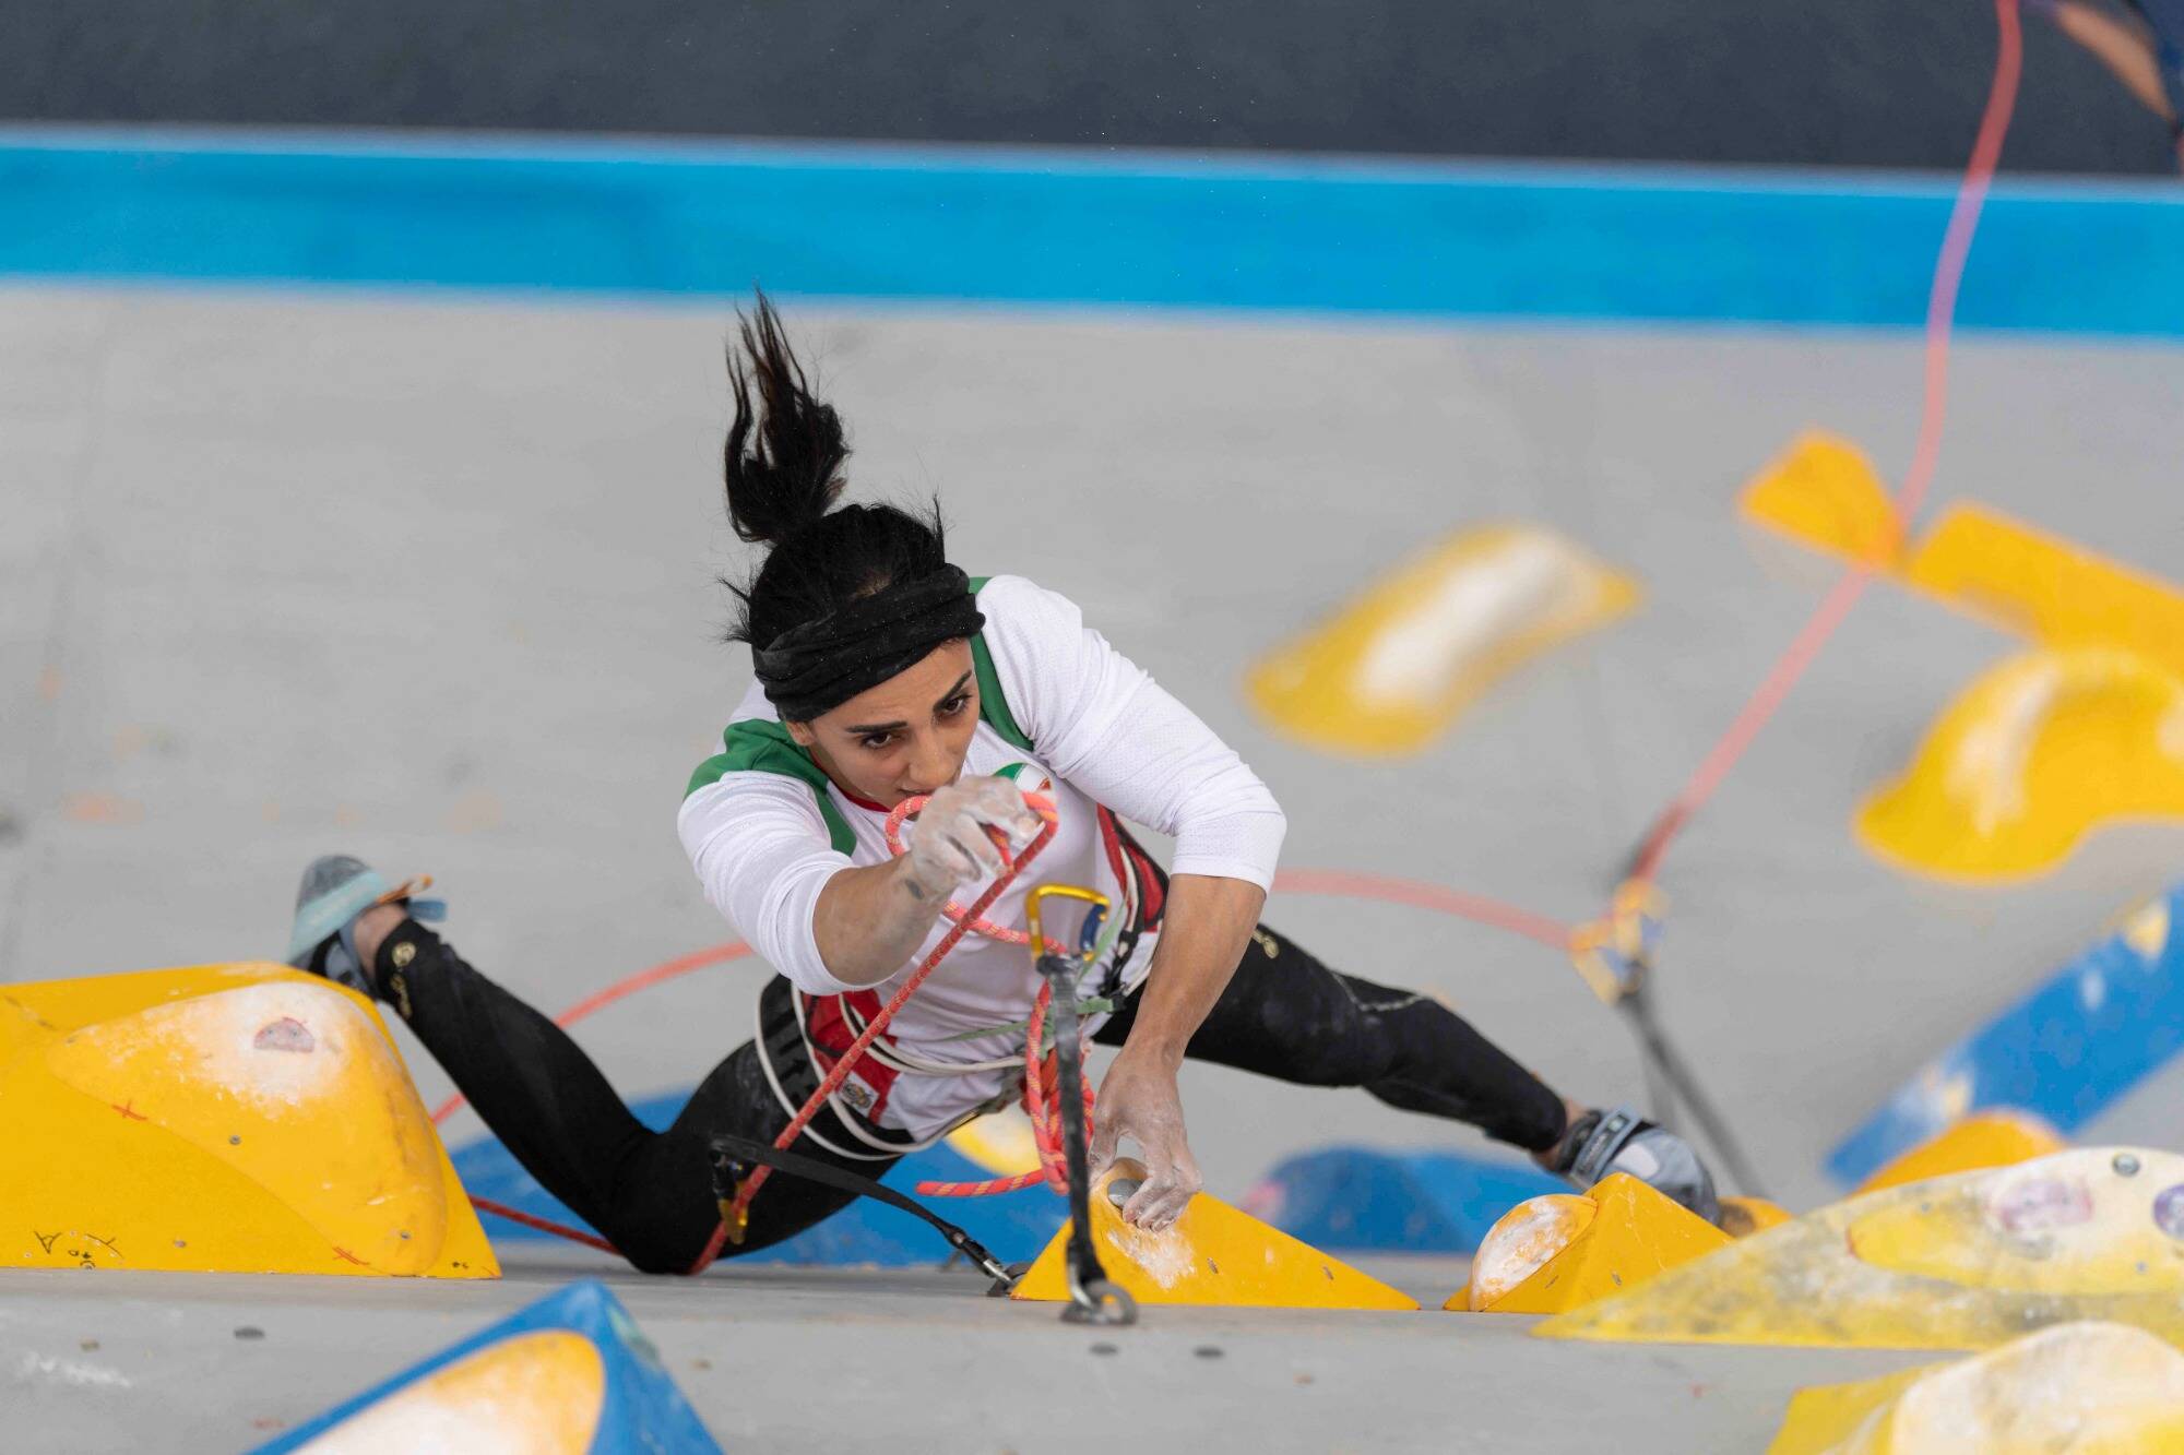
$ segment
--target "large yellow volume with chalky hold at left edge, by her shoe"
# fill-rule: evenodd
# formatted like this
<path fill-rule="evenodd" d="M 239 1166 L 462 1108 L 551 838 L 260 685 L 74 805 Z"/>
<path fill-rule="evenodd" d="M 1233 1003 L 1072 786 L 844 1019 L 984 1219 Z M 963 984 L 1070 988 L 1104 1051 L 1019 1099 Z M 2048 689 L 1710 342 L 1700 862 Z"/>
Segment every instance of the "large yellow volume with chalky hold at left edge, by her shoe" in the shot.
<path fill-rule="evenodd" d="M 0 990 L 0 1265 L 496 1278 L 376 1007 L 286 966 Z"/>

